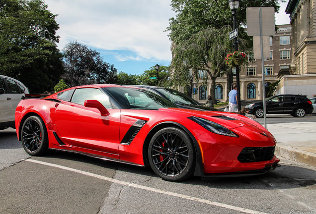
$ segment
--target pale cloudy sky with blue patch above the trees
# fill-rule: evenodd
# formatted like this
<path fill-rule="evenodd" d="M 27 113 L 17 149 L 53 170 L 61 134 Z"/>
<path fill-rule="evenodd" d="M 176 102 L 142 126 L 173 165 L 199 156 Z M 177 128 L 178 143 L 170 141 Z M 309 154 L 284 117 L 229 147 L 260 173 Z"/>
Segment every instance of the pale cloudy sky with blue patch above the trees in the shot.
<path fill-rule="evenodd" d="M 58 14 L 58 48 L 78 42 L 96 50 L 118 72 L 142 74 L 152 66 L 171 62 L 169 18 L 171 0 L 44 0 Z M 281 3 L 276 24 L 289 24 Z"/>

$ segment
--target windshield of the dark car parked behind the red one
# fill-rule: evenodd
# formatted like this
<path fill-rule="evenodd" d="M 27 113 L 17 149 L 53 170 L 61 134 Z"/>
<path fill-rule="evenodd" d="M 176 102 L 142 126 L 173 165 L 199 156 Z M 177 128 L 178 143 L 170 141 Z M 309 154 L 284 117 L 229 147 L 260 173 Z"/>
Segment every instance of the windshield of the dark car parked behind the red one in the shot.
<path fill-rule="evenodd" d="M 197 101 L 176 90 L 166 88 L 157 88 L 156 90 L 172 103 L 179 105 L 201 105 Z"/>

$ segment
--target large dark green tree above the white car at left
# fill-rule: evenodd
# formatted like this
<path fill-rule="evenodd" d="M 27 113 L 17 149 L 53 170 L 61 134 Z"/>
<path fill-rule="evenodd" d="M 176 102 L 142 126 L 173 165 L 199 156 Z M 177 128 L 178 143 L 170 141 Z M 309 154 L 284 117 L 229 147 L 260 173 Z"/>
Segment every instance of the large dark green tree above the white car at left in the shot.
<path fill-rule="evenodd" d="M 0 73 L 32 93 L 51 91 L 64 71 L 55 17 L 42 0 L 0 1 Z"/>

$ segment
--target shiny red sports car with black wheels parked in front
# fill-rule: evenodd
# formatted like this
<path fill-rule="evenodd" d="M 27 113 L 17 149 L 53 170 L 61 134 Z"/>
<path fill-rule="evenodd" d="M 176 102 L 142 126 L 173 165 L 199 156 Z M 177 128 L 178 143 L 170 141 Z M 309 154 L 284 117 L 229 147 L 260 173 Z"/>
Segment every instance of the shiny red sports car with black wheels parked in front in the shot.
<path fill-rule="evenodd" d="M 178 108 L 137 87 L 87 85 L 24 99 L 15 124 L 32 156 L 54 149 L 150 165 L 169 181 L 264 173 L 279 162 L 274 137 L 254 120 Z"/>

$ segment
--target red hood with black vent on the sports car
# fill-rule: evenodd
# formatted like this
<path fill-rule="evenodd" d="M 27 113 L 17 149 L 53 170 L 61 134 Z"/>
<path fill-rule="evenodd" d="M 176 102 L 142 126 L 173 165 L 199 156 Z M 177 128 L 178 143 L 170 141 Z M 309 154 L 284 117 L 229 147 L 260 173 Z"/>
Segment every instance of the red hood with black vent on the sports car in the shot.
<path fill-rule="evenodd" d="M 202 117 L 210 121 L 216 122 L 220 125 L 223 125 L 229 129 L 235 129 L 235 128 L 244 127 L 244 126 L 256 126 L 260 129 L 261 128 L 264 129 L 264 127 L 260 123 L 237 113 L 231 113 L 231 112 L 225 112 L 225 111 L 201 111 L 201 110 L 186 109 L 186 108 L 160 108 L 159 110 L 183 113 L 183 114 L 187 114 L 188 117 L 189 116 Z"/>

